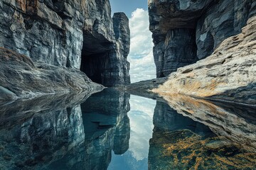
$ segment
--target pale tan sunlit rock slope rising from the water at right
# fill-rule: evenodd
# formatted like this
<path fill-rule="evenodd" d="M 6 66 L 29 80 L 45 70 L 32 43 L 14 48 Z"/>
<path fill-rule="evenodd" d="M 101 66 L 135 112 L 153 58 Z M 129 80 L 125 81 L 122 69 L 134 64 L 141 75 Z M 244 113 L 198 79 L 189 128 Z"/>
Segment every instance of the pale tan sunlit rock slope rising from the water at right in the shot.
<path fill-rule="evenodd" d="M 178 69 L 153 91 L 256 105 L 255 28 L 252 17 L 242 33 L 224 40 L 213 55 Z"/>

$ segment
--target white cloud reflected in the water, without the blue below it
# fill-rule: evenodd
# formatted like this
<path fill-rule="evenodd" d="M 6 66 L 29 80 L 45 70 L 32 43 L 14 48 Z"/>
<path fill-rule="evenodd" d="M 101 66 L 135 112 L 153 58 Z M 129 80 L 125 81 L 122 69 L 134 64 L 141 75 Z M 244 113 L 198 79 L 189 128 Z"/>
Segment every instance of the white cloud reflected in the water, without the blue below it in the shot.
<path fill-rule="evenodd" d="M 149 139 L 152 137 L 154 107 L 156 101 L 139 96 L 131 96 L 131 111 L 128 116 L 131 125 L 129 151 L 137 161 L 147 159 Z"/>

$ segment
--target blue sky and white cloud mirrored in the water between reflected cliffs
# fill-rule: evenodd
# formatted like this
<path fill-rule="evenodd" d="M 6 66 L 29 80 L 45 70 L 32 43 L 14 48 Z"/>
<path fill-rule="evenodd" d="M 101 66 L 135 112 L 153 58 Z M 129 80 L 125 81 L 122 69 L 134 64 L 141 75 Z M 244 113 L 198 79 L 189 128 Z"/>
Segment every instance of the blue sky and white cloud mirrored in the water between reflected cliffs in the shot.
<path fill-rule="evenodd" d="M 112 152 L 111 169 L 148 169 L 149 140 L 152 137 L 156 101 L 131 96 L 128 113 L 131 127 L 129 149 L 122 155 Z"/>

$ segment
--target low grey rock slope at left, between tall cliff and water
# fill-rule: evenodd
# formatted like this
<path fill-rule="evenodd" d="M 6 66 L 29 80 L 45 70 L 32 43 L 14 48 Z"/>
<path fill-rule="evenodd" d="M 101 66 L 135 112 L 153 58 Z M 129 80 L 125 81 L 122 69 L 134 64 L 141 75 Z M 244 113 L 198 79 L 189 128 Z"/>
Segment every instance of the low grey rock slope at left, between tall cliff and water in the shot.
<path fill-rule="evenodd" d="M 102 89 L 102 85 L 93 83 L 78 69 L 33 62 L 0 47 L 0 100 Z"/>

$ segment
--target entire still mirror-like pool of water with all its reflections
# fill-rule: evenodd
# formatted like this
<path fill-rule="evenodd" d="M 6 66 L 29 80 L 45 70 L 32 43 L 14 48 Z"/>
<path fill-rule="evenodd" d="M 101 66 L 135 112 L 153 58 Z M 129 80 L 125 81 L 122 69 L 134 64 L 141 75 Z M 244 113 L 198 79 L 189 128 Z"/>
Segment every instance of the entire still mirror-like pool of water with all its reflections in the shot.
<path fill-rule="evenodd" d="M 105 89 L 0 113 L 0 169 L 256 169 L 255 108 Z"/>

